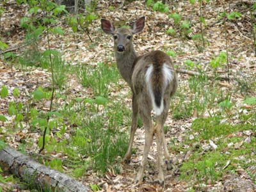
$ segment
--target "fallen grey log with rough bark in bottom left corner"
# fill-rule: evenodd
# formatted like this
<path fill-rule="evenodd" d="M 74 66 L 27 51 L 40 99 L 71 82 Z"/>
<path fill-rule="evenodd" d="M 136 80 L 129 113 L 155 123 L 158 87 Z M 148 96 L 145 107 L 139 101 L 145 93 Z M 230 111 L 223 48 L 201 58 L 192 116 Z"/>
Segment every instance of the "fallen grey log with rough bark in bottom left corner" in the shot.
<path fill-rule="evenodd" d="M 49 189 L 72 192 L 91 191 L 88 186 L 84 186 L 68 175 L 36 163 L 29 156 L 25 156 L 10 147 L 0 150 L 0 166 L 3 170 L 10 170 L 25 182 L 36 186 L 36 188 L 45 189 L 45 191 Z"/>

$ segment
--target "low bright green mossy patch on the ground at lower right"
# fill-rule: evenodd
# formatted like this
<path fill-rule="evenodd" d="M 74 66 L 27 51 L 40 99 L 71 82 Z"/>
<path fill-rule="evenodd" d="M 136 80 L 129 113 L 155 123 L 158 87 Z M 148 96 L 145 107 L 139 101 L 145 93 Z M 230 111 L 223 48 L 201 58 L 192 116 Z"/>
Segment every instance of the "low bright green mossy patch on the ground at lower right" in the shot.
<path fill-rule="evenodd" d="M 189 134 L 196 134 L 192 141 L 184 140 L 179 146 L 174 148 L 174 151 L 188 152 L 192 151 L 189 159 L 182 163 L 180 167 L 181 180 L 194 180 L 196 182 L 207 184 L 209 180 L 215 183 L 221 180 L 223 174 L 232 174 L 237 168 L 248 168 L 253 165 L 253 148 L 256 148 L 256 139 L 251 136 L 251 143 L 243 143 L 241 147 L 228 147 L 228 143 L 239 143 L 244 141 L 246 135 L 243 131 L 250 130 L 253 134 L 256 133 L 256 126 L 250 124 L 221 124 L 220 117 L 214 118 L 197 118 L 191 125 Z M 240 132 L 240 134 L 238 134 Z M 242 134 L 241 134 L 242 133 Z M 240 135 L 240 136 L 237 136 Z M 214 141 L 217 145 L 216 150 L 210 148 L 203 150 L 202 145 L 209 143 L 209 140 Z M 195 143 L 196 145 L 191 145 Z M 182 148 L 186 144 L 189 148 Z M 243 157 L 239 159 L 239 157 Z M 249 161 L 248 161 L 249 160 Z M 250 161 L 252 160 L 252 161 Z M 230 164 L 223 170 L 226 163 Z"/>

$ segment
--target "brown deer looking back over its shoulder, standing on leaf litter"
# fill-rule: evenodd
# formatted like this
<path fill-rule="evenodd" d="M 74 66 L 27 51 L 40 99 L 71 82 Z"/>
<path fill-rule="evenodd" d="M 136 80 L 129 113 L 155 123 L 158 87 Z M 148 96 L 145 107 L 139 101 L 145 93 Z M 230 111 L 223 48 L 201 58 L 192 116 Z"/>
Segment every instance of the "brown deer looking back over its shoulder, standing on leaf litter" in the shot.
<path fill-rule="evenodd" d="M 151 51 L 138 56 L 132 43 L 133 35 L 140 33 L 145 26 L 145 16 L 133 22 L 130 28 L 118 28 L 106 19 L 101 19 L 104 33 L 113 36 L 114 52 L 118 72 L 129 84 L 132 92 L 132 122 L 129 145 L 124 162 L 130 163 L 134 134 L 140 115 L 145 129 L 145 145 L 135 182 L 141 184 L 148 160 L 150 147 L 156 136 L 158 176 L 156 182 L 164 186 L 163 152 L 167 170 L 172 169 L 168 152 L 164 123 L 170 108 L 170 99 L 177 90 L 177 75 L 172 60 L 163 51 Z M 155 125 L 152 120 L 155 114 Z"/>

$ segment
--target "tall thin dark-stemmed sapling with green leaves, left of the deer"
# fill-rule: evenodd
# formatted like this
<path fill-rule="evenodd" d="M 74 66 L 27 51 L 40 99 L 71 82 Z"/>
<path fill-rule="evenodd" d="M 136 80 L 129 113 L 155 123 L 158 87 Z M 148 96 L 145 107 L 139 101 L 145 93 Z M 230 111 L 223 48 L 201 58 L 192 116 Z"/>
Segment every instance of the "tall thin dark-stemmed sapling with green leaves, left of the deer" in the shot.
<path fill-rule="evenodd" d="M 26 1 L 23 3 L 26 3 Z M 31 42 L 33 43 L 36 50 L 38 50 L 37 49 L 37 40 L 38 40 L 39 36 L 42 35 L 42 33 L 44 31 L 46 31 L 48 49 L 44 52 L 43 56 L 45 58 L 49 58 L 49 65 L 47 65 L 47 66 L 50 67 L 51 79 L 52 79 L 51 104 L 50 104 L 50 108 L 49 108 L 49 113 L 46 114 L 46 120 L 43 118 L 42 120 L 36 121 L 39 125 L 44 127 L 43 128 L 44 134 L 43 134 L 43 139 L 42 139 L 43 142 L 42 142 L 42 148 L 40 148 L 40 151 L 39 151 L 39 153 L 40 153 L 45 148 L 45 137 L 47 134 L 47 128 L 50 129 L 51 125 L 52 125 L 52 123 L 49 121 L 50 117 L 52 115 L 57 114 L 57 113 L 52 113 L 52 100 L 54 98 L 55 86 L 56 86 L 56 83 L 59 83 L 58 86 L 60 87 L 61 83 L 63 83 L 63 81 L 62 81 L 63 79 L 61 79 L 62 77 L 54 76 L 54 67 L 56 67 L 56 65 L 54 65 L 53 59 L 54 59 L 54 56 L 56 56 L 56 54 L 58 52 L 50 49 L 49 34 L 63 35 L 64 32 L 59 27 L 50 28 L 49 26 L 52 26 L 52 24 L 56 24 L 56 22 L 57 22 L 56 19 L 58 18 L 58 15 L 60 15 L 60 13 L 67 12 L 67 11 L 65 10 L 64 5 L 58 6 L 56 3 L 53 3 L 52 1 L 45 1 L 45 0 L 29 1 L 29 6 L 31 6 L 29 13 L 31 13 L 32 15 L 35 16 L 38 13 L 38 10 L 41 10 L 44 13 L 44 17 L 41 20 L 41 22 L 38 22 L 38 20 L 36 20 L 37 17 L 32 17 L 32 18 L 23 17 L 20 20 L 20 26 L 27 30 L 27 40 L 29 40 L 29 43 L 31 43 Z M 50 14 L 50 12 L 51 12 L 51 14 Z M 36 24 L 36 25 L 34 25 L 34 24 Z M 38 100 L 43 98 L 42 95 L 43 94 L 40 93 L 39 90 L 37 90 L 37 92 L 34 92 L 34 98 L 37 98 Z"/>

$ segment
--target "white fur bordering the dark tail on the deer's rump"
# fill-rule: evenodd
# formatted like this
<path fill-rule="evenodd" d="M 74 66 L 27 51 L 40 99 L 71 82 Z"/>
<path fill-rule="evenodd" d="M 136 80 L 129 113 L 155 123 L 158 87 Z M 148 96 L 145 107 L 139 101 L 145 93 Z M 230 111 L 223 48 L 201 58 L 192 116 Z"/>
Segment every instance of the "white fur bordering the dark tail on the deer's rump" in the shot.
<path fill-rule="evenodd" d="M 163 113 L 163 110 L 164 110 L 163 95 L 162 95 L 162 98 L 161 98 L 160 107 L 156 106 L 155 96 L 154 96 L 154 92 L 152 90 L 152 83 L 151 83 L 151 77 L 152 77 L 153 69 L 154 69 L 153 65 L 150 64 L 148 69 L 147 69 L 147 72 L 145 74 L 145 81 L 148 85 L 148 92 L 149 92 L 149 95 L 150 95 L 150 98 L 151 98 L 153 110 L 155 111 L 156 115 L 159 116 L 159 115 L 161 115 L 161 113 Z M 173 71 L 172 68 L 168 67 L 168 65 L 166 65 L 164 63 L 164 65 L 163 65 L 163 76 L 164 76 L 164 86 L 163 86 L 163 88 L 164 89 L 166 88 L 168 83 L 170 83 L 170 81 L 172 81 L 172 79 L 173 79 L 172 71 Z"/>

